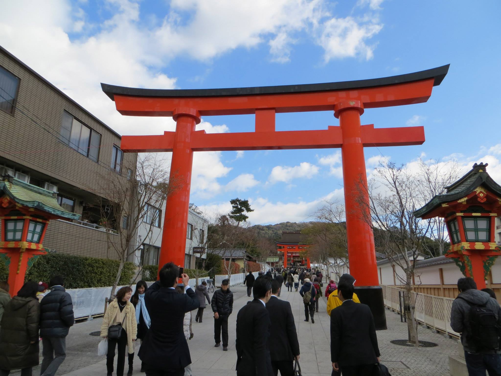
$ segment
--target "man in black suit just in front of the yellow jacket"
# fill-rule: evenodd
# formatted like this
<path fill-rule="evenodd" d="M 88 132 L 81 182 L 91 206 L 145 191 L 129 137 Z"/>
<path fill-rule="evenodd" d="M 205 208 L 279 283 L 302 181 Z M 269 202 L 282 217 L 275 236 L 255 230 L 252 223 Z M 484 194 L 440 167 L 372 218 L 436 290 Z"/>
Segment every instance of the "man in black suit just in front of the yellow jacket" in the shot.
<path fill-rule="evenodd" d="M 331 311 L 331 361 L 343 376 L 365 376 L 379 361 L 379 348 L 372 312 L 368 305 L 353 302 L 353 291 L 351 283 L 338 286 L 343 303 Z"/>

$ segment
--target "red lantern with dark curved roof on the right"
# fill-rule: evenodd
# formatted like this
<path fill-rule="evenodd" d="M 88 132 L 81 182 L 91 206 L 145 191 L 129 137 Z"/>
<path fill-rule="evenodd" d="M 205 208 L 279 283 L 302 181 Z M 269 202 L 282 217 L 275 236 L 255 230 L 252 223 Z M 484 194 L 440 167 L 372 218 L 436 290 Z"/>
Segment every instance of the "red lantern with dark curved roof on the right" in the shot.
<path fill-rule="evenodd" d="M 416 217 L 445 219 L 450 248 L 444 252 L 466 277 L 472 277 L 478 289 L 485 288 L 485 279 L 501 248 L 494 243 L 495 219 L 501 212 L 501 185 L 486 171 L 487 163 L 473 168 L 414 212 Z"/>

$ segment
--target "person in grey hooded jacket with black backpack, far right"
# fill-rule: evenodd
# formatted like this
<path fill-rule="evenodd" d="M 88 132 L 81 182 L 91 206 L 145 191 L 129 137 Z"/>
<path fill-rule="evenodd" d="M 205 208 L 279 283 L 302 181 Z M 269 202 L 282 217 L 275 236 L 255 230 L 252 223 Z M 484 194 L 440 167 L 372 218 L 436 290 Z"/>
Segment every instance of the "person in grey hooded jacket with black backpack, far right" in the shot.
<path fill-rule="evenodd" d="M 461 333 L 464 360 L 469 375 L 501 375 L 501 307 L 471 277 L 457 280 L 459 295 L 452 302 L 450 326 Z"/>

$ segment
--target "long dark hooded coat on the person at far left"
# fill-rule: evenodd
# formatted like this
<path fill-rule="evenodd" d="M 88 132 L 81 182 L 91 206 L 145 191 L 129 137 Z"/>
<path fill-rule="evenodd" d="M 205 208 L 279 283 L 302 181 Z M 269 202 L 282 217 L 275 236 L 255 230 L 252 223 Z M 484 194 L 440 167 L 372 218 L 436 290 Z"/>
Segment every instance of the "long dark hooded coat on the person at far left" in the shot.
<path fill-rule="evenodd" d="M 38 365 L 39 320 L 40 303 L 37 298 L 15 296 L 9 301 L 0 329 L 0 368 L 18 369 Z"/>

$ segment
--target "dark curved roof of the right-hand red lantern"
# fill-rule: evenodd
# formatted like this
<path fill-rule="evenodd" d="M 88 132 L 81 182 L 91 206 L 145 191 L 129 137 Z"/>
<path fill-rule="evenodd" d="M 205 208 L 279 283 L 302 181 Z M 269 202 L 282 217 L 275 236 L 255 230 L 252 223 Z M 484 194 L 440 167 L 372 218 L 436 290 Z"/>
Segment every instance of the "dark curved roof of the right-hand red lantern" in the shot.
<path fill-rule="evenodd" d="M 433 197 L 425 206 L 423 206 L 421 209 L 416 210 L 414 212 L 414 215 L 417 218 L 421 218 L 431 211 L 435 210 L 435 208 L 440 206 L 442 203 L 459 200 L 467 196 L 480 185 L 484 186 L 493 194 L 501 197 L 501 185 L 497 184 L 489 176 L 486 167 L 487 163 L 473 164 L 473 168 L 469 170 L 463 177 L 461 177 L 451 185 L 445 187 L 446 193 Z"/>

